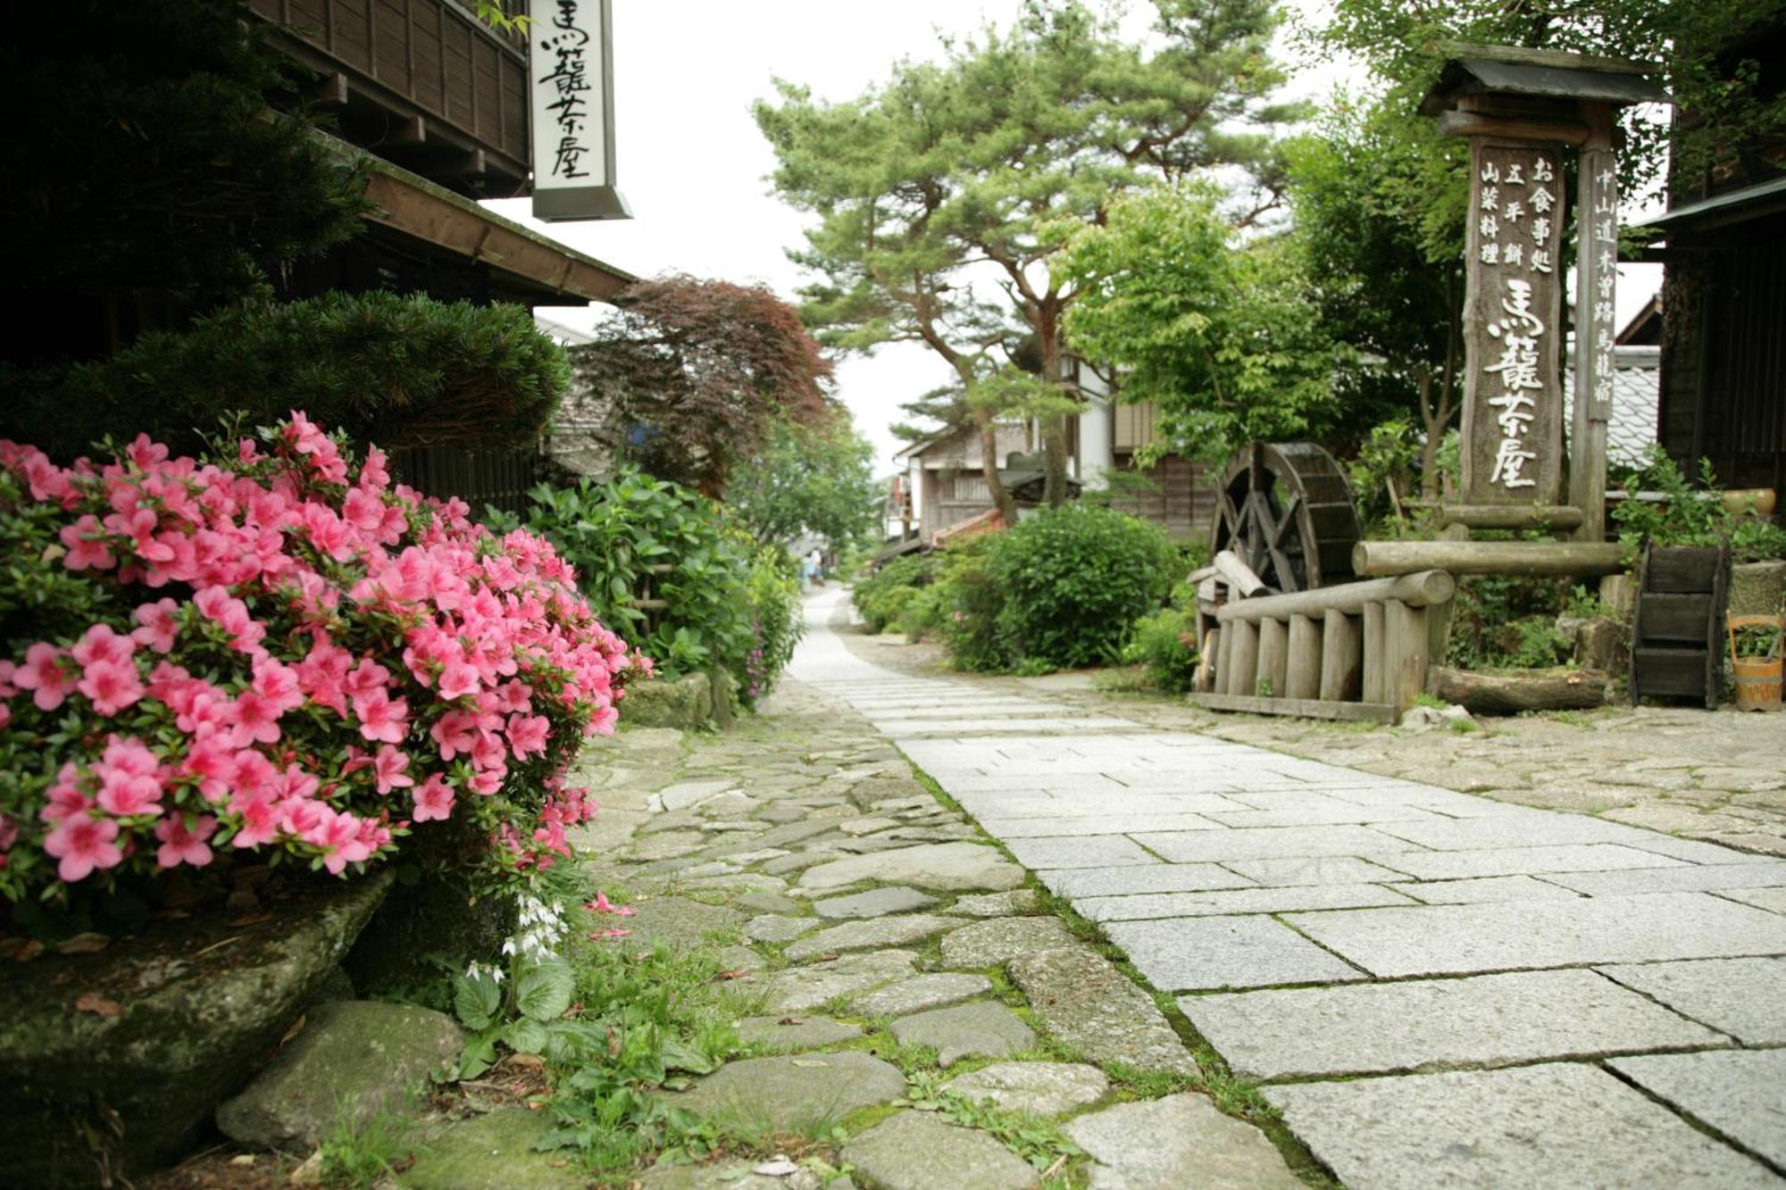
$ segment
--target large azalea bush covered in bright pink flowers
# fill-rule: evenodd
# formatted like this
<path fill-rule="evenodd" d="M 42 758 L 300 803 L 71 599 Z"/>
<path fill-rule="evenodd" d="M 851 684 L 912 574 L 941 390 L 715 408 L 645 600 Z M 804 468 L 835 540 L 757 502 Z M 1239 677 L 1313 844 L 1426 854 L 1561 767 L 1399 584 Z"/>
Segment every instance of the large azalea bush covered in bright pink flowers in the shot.
<path fill-rule="evenodd" d="M 523 876 L 595 813 L 566 768 L 650 663 L 572 568 L 302 413 L 261 436 L 0 441 L 0 897 L 220 852 L 341 874 L 446 822 Z"/>

